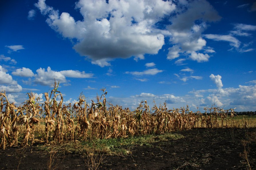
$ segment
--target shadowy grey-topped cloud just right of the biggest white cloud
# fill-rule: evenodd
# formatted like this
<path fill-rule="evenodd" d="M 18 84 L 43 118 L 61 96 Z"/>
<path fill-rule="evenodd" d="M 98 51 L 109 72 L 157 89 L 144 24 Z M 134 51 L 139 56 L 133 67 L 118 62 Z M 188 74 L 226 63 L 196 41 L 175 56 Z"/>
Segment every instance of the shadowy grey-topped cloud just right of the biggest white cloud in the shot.
<path fill-rule="evenodd" d="M 171 19 L 172 24 L 166 26 L 171 33 L 170 41 L 176 44 L 168 49 L 167 59 L 178 58 L 182 53 L 191 54 L 190 58 L 197 62 L 206 62 L 210 56 L 196 53 L 206 46 L 206 40 L 202 38 L 201 33 L 207 27 L 207 22 L 218 21 L 221 17 L 205 0 L 190 1 L 182 5 L 184 8 L 177 10 L 178 14 Z"/>

